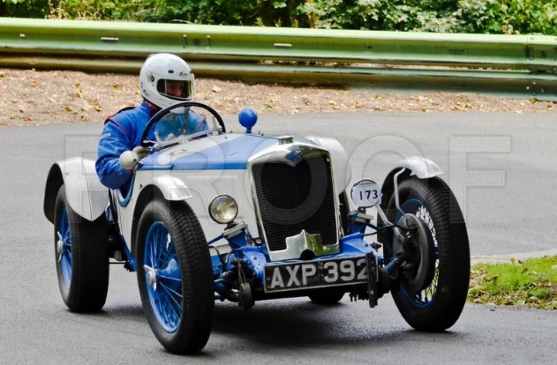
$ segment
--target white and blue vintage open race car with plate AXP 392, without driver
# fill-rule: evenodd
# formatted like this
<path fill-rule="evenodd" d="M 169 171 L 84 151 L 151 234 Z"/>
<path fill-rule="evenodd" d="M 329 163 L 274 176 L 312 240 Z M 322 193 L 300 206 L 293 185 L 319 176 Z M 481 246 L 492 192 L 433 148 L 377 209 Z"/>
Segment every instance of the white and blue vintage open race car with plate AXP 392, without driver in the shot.
<path fill-rule="evenodd" d="M 192 112 L 207 125 L 188 135 Z M 133 169 L 128 191 L 105 188 L 91 160 L 51 167 L 44 211 L 67 307 L 103 307 L 112 259 L 137 273 L 149 325 L 174 353 L 205 346 L 217 299 L 249 309 L 286 297 L 333 304 L 348 293 L 374 307 L 391 292 L 418 331 L 456 322 L 470 278 L 468 238 L 434 162 L 409 157 L 382 186 L 349 187 L 338 141 L 256 134 L 250 108 L 239 120 L 245 131 L 226 132 L 198 102 L 158 112 L 143 134 L 149 154 L 120 156 Z M 152 128 L 155 141 L 146 139 Z"/>

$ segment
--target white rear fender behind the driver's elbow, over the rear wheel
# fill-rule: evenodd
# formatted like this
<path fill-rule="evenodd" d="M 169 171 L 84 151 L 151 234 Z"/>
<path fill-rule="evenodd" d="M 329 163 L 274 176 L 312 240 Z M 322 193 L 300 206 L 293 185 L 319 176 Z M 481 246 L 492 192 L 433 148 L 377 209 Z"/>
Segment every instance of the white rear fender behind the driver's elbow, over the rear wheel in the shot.
<path fill-rule="evenodd" d="M 95 161 L 73 157 L 58 161 L 56 165 L 60 167 L 67 203 L 71 209 L 90 221 L 104 214 L 109 190 L 97 176 Z"/>

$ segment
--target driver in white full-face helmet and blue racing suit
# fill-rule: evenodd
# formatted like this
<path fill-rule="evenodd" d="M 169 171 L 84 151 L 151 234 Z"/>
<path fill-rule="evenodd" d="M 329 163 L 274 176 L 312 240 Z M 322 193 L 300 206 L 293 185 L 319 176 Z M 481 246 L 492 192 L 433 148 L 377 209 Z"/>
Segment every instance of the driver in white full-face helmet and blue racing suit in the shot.
<path fill-rule="evenodd" d="M 120 155 L 134 150 L 141 159 L 148 154 L 144 147 L 140 147 L 140 139 L 149 120 L 162 108 L 192 101 L 193 81 L 192 70 L 182 58 L 169 53 L 147 57 L 139 72 L 143 102 L 138 107 L 124 108 L 105 120 L 95 163 L 97 175 L 103 185 L 110 189 L 121 189 L 123 195 L 128 193 L 131 171 L 120 166 Z M 163 140 L 170 134 L 178 136 L 208 129 L 205 116 L 192 111 L 164 123 L 164 128 L 159 127 L 159 138 Z M 157 123 L 150 128 L 147 136 L 149 140 L 155 140 L 156 127 Z"/>

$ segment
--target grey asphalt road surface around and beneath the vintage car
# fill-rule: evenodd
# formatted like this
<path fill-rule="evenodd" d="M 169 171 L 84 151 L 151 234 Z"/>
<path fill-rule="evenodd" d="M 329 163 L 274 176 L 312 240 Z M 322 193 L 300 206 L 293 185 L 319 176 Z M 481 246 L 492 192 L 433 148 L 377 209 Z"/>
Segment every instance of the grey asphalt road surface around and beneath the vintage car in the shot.
<path fill-rule="evenodd" d="M 438 162 L 466 210 L 478 255 L 557 246 L 556 121 L 547 114 L 323 114 L 266 116 L 255 130 L 337 137 L 351 155 L 353 179 L 380 181 L 402 155 Z M 423 334 L 388 297 L 374 309 L 348 298 L 327 308 L 275 300 L 249 312 L 217 303 L 203 353 L 176 357 L 143 317 L 135 274 L 115 265 L 105 311 L 70 313 L 58 293 L 43 189 L 52 162 L 94 158 L 100 129 L 92 122 L 0 127 L 0 363 L 555 363 L 556 312 L 467 304 L 451 331 Z"/>

